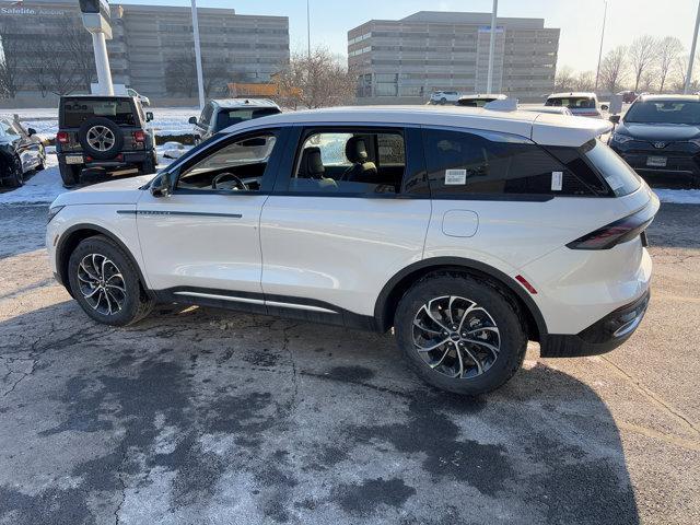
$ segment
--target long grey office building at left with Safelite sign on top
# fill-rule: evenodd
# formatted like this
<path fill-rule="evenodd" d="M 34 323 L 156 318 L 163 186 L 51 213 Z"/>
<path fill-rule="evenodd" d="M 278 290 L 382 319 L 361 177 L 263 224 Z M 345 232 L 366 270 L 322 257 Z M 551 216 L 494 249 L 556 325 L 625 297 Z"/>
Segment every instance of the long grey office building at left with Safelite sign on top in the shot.
<path fill-rule="evenodd" d="M 287 16 L 214 8 L 197 13 L 210 96 L 220 96 L 228 82 L 268 82 L 289 61 Z M 190 8 L 112 3 L 110 18 L 107 52 L 115 83 L 155 101 L 197 95 Z M 1 5 L 0 54 L 14 68 L 16 97 L 51 100 L 57 91 L 90 89 L 92 40 L 77 0 Z"/>

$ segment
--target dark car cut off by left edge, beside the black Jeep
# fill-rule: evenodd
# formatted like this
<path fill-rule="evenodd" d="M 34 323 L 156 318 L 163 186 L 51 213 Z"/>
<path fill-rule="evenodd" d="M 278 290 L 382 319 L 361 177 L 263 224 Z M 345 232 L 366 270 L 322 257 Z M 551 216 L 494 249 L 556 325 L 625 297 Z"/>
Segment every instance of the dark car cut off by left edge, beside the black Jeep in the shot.
<path fill-rule="evenodd" d="M 7 118 L 0 119 L 0 179 L 10 187 L 24 184 L 24 174 L 44 170 L 46 151 L 33 128 Z"/>

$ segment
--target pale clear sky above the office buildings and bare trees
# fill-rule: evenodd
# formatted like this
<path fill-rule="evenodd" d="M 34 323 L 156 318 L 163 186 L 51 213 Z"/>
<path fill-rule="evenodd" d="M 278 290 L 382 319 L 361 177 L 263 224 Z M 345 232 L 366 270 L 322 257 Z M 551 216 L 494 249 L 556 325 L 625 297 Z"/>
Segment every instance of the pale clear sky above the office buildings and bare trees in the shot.
<path fill-rule="evenodd" d="M 492 0 L 310 0 L 312 46 L 347 55 L 347 32 L 371 19 L 398 20 L 416 11 L 489 12 Z M 609 0 L 604 54 L 634 36 L 675 35 L 687 49 L 699 0 Z M 124 3 L 189 5 L 188 0 L 122 0 Z M 116 3 L 116 0 L 115 2 Z M 306 0 L 198 0 L 200 7 L 233 8 L 241 14 L 289 16 L 292 50 L 306 48 Z M 499 15 L 545 19 L 561 28 L 558 66 L 595 70 L 604 0 L 500 0 Z"/>

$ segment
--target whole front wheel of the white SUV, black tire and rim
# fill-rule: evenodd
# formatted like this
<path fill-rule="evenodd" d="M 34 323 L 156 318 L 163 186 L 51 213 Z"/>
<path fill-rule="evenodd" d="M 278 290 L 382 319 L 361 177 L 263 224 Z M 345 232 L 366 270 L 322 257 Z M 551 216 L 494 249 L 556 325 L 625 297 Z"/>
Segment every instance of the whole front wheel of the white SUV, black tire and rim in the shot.
<path fill-rule="evenodd" d="M 105 259 L 108 262 L 103 264 Z M 83 268 L 88 268 L 88 271 L 81 269 L 83 261 Z M 103 287 L 90 298 L 86 294 L 100 287 L 93 287 L 85 278 L 98 282 L 90 277 L 98 277 L 98 272 L 94 271 L 96 267 L 104 268 L 102 282 L 109 287 L 109 294 L 102 291 Z M 139 272 L 131 258 L 104 235 L 88 237 L 75 247 L 68 261 L 68 281 L 73 298 L 83 311 L 98 323 L 113 326 L 131 325 L 145 317 L 153 308 L 154 301 L 143 291 Z M 118 288 L 124 289 L 124 292 L 117 290 Z"/>

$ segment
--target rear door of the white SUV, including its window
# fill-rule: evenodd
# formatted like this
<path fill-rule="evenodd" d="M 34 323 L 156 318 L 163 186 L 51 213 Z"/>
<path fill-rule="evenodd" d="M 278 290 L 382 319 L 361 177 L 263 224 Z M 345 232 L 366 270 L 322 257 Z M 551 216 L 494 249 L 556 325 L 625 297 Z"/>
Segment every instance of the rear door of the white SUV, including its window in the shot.
<path fill-rule="evenodd" d="M 335 314 L 339 324 L 347 312 L 372 316 L 384 284 L 422 258 L 431 202 L 420 130 L 323 125 L 294 132 L 260 219 L 268 311 Z M 349 159 L 349 140 L 355 153 L 364 147 L 365 162 L 352 162 L 360 160 L 352 152 Z"/>

